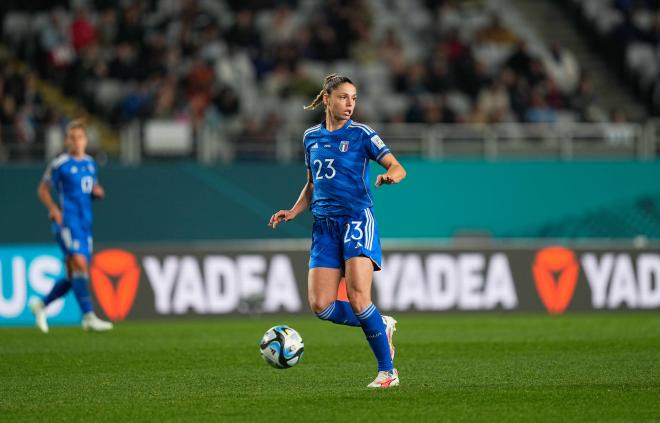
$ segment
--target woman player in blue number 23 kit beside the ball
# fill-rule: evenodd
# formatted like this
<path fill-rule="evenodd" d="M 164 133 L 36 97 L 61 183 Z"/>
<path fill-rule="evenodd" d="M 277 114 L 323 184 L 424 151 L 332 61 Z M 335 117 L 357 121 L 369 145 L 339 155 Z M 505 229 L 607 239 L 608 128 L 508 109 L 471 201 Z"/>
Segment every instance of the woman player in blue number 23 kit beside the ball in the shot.
<path fill-rule="evenodd" d="M 306 107 L 325 106 L 325 121 L 303 135 L 307 183 L 293 207 L 273 214 L 269 225 L 276 228 L 311 205 L 310 307 L 323 320 L 362 327 L 378 361 L 378 375 L 368 387 L 389 388 L 399 384 L 392 345 L 396 320 L 381 316 L 371 302 L 381 249 L 369 189 L 369 160 L 387 170 L 376 178 L 376 187 L 401 182 L 406 171 L 373 129 L 351 120 L 356 102 L 357 90 L 349 78 L 337 74 L 325 78 L 323 89 Z M 350 305 L 337 300 L 342 275 Z"/>

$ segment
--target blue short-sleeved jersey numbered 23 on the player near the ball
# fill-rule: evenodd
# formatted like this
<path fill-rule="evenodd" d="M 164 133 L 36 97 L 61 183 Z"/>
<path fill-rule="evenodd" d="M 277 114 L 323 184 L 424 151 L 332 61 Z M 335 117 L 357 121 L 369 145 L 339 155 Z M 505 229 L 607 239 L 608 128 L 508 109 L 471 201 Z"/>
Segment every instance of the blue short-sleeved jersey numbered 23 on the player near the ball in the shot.
<path fill-rule="evenodd" d="M 373 129 L 349 119 L 328 131 L 323 122 L 305 131 L 303 143 L 314 183 L 315 217 L 353 216 L 373 207 L 369 160 L 380 161 L 390 152 Z"/>

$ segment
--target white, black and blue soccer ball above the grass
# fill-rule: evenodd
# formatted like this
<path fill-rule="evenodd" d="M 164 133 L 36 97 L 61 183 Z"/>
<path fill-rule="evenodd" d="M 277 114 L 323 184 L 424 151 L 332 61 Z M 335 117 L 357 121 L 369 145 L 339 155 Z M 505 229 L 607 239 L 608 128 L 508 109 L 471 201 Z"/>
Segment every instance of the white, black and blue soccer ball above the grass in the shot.
<path fill-rule="evenodd" d="M 277 325 L 268 329 L 259 344 L 266 363 L 277 369 L 295 366 L 302 358 L 305 344 L 295 329 Z"/>

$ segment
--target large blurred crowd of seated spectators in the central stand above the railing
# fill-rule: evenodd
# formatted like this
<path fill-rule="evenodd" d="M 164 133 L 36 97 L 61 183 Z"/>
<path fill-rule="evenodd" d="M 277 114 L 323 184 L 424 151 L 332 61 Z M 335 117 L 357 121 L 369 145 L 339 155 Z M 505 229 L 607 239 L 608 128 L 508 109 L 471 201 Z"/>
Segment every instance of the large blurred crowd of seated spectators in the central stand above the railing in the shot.
<path fill-rule="evenodd" d="M 31 13 L 28 29 L 11 18 L 5 41 L 113 124 L 268 136 L 319 119 L 302 106 L 332 71 L 357 83 L 365 121 L 608 119 L 570 51 L 530 45 L 478 0 L 72 0 Z"/>

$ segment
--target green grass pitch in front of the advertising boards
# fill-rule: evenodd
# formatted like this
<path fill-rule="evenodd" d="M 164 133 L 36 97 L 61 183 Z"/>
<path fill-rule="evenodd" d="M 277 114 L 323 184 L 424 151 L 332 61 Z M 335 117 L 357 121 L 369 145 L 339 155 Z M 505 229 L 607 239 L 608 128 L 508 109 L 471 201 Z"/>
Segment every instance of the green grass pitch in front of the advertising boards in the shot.
<path fill-rule="evenodd" d="M 397 317 L 383 391 L 361 330 L 312 317 L 0 329 L 0 421 L 660 421 L 660 313 Z M 292 369 L 259 355 L 278 323 Z"/>

